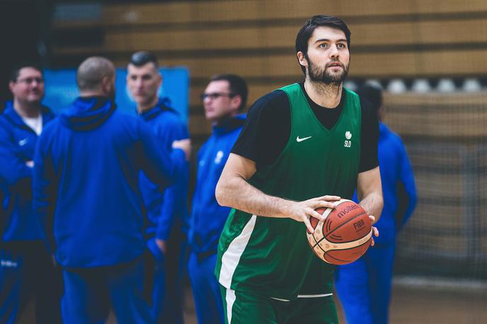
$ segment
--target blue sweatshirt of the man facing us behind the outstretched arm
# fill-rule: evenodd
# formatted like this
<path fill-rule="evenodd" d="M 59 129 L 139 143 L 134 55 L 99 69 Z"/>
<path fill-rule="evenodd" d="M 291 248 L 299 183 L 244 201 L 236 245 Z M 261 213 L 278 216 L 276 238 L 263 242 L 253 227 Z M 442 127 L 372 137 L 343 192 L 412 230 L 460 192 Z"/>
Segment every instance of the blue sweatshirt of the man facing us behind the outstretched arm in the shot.
<path fill-rule="evenodd" d="M 154 131 L 156 142 L 171 151 L 173 141 L 188 139 L 190 134 L 188 127 L 179 116 L 176 110 L 164 105 L 164 100 L 153 108 L 146 110 L 140 116 L 147 122 L 147 125 Z M 159 187 L 152 183 L 144 173 L 140 175 L 140 190 L 147 208 L 149 224 L 147 234 L 149 237 L 156 236 L 161 240 L 167 240 L 171 232 L 171 226 L 175 223 L 184 224 L 188 228 L 188 181 L 189 163 L 184 164 L 184 173 L 176 183 L 168 187 L 164 194 Z"/>

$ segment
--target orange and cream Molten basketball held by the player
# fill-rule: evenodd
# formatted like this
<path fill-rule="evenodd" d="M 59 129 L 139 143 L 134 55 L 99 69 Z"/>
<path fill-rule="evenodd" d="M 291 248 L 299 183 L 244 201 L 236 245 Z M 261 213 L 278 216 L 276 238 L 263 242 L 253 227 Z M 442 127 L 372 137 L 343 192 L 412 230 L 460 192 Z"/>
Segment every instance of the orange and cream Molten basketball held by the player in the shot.
<path fill-rule="evenodd" d="M 319 208 L 326 218 L 310 217 L 314 233 L 306 230 L 309 246 L 321 260 L 333 265 L 346 265 L 360 258 L 372 240 L 372 222 L 355 202 L 340 199 L 335 208 Z"/>

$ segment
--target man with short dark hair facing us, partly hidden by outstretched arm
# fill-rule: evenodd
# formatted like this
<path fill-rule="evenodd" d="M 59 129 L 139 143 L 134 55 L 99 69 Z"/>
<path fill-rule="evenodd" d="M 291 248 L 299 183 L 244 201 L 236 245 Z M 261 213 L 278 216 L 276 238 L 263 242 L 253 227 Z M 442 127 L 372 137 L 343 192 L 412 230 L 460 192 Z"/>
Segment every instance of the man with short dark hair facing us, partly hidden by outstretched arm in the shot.
<path fill-rule="evenodd" d="M 171 149 L 173 141 L 187 139 L 188 127 L 169 106 L 167 98 L 159 98 L 162 77 L 154 54 L 136 52 L 127 66 L 127 86 L 137 103 L 137 113 L 154 131 L 160 146 Z M 162 194 L 157 186 L 140 176 L 140 190 L 149 216 L 148 247 L 156 258 L 152 312 L 164 323 L 183 323 L 183 273 L 185 238 L 188 223 L 189 163 L 185 173 Z"/>

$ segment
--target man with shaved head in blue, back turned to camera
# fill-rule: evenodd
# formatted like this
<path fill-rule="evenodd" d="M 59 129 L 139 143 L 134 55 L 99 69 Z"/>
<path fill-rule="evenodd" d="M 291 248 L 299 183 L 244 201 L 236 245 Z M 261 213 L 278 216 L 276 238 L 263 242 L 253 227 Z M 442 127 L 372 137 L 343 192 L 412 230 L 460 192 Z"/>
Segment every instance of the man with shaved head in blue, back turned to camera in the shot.
<path fill-rule="evenodd" d="M 63 267 L 64 323 L 153 323 L 143 296 L 146 248 L 139 173 L 164 188 L 184 172 L 189 140 L 159 146 L 139 118 L 115 109 L 115 67 L 89 57 L 81 96 L 38 141 L 34 208 Z M 181 149 L 178 149 L 181 148 Z"/>

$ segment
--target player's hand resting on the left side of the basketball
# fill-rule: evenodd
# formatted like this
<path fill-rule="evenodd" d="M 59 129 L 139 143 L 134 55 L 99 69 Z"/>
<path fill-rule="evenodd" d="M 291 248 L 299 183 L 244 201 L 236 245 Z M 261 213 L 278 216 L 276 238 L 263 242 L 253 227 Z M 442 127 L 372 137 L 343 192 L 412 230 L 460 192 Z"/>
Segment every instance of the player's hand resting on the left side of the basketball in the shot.
<path fill-rule="evenodd" d="M 294 221 L 302 221 L 310 233 L 314 233 L 313 227 L 309 221 L 309 216 L 323 221 L 324 216 L 316 212 L 315 209 L 324 208 L 335 208 L 334 202 L 340 200 L 338 196 L 321 196 L 315 197 L 303 202 L 290 202 L 289 217 L 294 219 Z"/>

